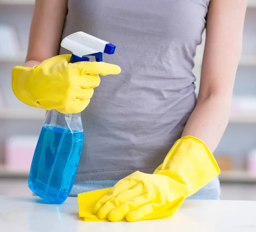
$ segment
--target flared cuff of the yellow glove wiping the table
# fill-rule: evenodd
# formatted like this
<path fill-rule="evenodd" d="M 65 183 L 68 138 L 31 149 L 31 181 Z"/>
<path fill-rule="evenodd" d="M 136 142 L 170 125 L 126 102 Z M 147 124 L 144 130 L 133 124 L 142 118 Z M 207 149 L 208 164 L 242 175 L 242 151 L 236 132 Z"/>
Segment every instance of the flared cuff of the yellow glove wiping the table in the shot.
<path fill-rule="evenodd" d="M 154 174 L 166 175 L 186 185 L 186 198 L 220 174 L 208 147 L 198 138 L 185 136 L 172 146 Z"/>

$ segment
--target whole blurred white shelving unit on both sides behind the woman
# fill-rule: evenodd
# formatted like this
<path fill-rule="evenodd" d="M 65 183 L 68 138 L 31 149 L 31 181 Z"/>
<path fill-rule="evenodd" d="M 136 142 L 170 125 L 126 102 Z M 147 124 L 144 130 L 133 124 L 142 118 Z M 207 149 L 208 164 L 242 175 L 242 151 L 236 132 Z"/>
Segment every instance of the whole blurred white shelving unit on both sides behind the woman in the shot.
<path fill-rule="evenodd" d="M 32 18 L 35 0 L 0 0 L 0 23 L 10 24 L 17 28 L 22 44 L 22 50 L 15 56 L 0 55 L 0 85 L 3 86 L 4 94 L 11 104 L 9 108 L 0 109 L 0 157 L 3 152 L 3 143 L 6 136 L 39 135 L 44 121 L 45 111 L 25 107 L 12 94 L 11 69 L 15 65 L 22 65 L 26 57 L 29 26 Z M 15 19 L 13 18 L 15 17 Z M 22 19 L 22 20 L 20 20 Z M 248 1 L 248 9 L 244 26 L 243 54 L 239 62 L 239 70 L 234 89 L 235 95 L 244 95 L 250 89 L 247 85 L 256 86 L 256 0 Z M 15 22 L 15 25 L 13 25 Z M 200 82 L 201 61 L 204 43 L 198 47 L 195 57 L 195 75 L 198 78 L 197 88 Z M 250 89 L 250 95 L 255 95 Z M 246 140 L 244 139 L 246 138 Z M 256 148 L 256 113 L 232 116 L 227 131 L 221 140 L 217 153 L 230 153 L 235 158 L 237 170 L 241 169 L 241 157 L 250 149 Z M 3 160 L 2 160 L 3 161 Z M 28 172 L 14 172 L 1 164 L 0 177 L 27 178 Z M 256 176 L 244 171 L 223 172 L 220 180 L 224 183 L 256 183 Z"/>

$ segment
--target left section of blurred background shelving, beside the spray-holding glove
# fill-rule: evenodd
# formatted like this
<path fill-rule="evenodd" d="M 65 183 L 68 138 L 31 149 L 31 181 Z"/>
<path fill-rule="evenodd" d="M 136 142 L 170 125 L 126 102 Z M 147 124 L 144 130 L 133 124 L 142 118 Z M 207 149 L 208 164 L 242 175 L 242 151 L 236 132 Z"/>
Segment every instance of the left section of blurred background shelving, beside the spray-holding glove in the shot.
<path fill-rule="evenodd" d="M 11 87 L 12 67 L 23 65 L 25 61 L 34 4 L 35 0 L 0 0 L 0 23 L 11 26 L 12 32 L 17 34 L 19 47 L 17 54 L 0 54 L 0 92 L 5 101 L 1 105 L 0 99 L 0 178 L 28 177 L 29 170 L 17 171 L 4 166 L 5 141 L 19 135 L 37 137 L 44 122 L 45 111 L 25 106 L 14 96 Z"/>

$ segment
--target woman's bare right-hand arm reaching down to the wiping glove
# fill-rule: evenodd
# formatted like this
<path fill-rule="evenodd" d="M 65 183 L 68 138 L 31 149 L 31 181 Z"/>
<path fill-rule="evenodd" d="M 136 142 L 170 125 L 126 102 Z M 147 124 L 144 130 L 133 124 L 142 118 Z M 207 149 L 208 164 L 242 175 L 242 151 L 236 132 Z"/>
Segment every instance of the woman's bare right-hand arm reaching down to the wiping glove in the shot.
<path fill-rule="evenodd" d="M 198 101 L 182 136 L 198 137 L 214 152 L 227 127 L 241 55 L 247 0 L 211 0 Z"/>

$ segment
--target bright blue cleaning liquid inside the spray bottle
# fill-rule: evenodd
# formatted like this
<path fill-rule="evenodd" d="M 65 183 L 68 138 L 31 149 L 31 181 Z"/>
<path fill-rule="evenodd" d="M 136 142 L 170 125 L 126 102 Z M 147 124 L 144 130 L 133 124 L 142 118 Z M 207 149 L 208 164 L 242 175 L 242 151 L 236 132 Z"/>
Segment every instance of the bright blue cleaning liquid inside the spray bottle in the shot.
<path fill-rule="evenodd" d="M 43 126 L 29 173 L 29 188 L 35 195 L 46 203 L 60 204 L 67 199 L 75 182 L 83 142 L 82 131 Z"/>

